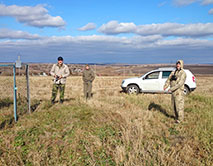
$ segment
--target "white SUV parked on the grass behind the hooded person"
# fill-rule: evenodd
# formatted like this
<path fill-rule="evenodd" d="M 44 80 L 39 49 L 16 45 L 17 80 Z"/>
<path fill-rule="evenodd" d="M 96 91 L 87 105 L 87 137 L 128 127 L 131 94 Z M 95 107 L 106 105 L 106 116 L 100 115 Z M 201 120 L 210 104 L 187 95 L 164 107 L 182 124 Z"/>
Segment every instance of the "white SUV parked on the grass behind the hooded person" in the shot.
<path fill-rule="evenodd" d="M 164 91 L 163 86 L 174 70 L 175 68 L 159 68 L 141 77 L 125 79 L 121 84 L 121 88 L 129 94 L 138 94 L 139 92 L 168 93 L 168 89 Z M 186 72 L 184 93 L 187 95 L 196 89 L 196 82 L 195 76 L 188 69 L 184 69 L 184 71 Z"/>

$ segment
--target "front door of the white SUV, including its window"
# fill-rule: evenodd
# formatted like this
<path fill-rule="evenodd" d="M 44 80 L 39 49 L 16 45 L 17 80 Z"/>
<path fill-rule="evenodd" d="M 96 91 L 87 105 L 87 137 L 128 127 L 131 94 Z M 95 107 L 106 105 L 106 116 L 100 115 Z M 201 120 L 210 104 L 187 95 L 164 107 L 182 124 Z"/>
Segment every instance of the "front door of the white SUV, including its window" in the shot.
<path fill-rule="evenodd" d="M 152 73 L 147 74 L 145 77 L 143 77 L 142 80 L 142 91 L 147 92 L 155 92 L 159 90 L 159 79 L 160 71 L 154 71 Z"/>

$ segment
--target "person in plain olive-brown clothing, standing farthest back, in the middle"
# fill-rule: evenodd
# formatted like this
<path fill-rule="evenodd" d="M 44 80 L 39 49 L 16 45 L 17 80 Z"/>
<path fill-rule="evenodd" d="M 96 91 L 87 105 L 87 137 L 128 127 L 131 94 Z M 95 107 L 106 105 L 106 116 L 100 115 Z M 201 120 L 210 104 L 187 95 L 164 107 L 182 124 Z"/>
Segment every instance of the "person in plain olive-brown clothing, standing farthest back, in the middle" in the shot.
<path fill-rule="evenodd" d="M 92 82 L 95 79 L 95 74 L 90 66 L 87 64 L 83 70 L 84 82 L 84 97 L 90 99 L 92 97 Z"/>

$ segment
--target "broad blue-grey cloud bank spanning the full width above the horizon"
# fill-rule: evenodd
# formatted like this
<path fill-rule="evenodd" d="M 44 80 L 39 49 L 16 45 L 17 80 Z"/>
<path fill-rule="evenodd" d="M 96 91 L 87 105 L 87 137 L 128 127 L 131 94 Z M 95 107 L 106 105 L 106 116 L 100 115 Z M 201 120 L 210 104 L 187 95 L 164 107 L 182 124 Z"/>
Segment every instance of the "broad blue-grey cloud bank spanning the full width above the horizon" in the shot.
<path fill-rule="evenodd" d="M 38 40 L 0 42 L 1 58 L 25 62 L 55 62 L 58 55 L 66 63 L 166 63 L 184 59 L 188 63 L 213 61 L 213 41 L 161 36 L 53 36 Z M 192 61 L 193 60 L 193 61 Z"/>

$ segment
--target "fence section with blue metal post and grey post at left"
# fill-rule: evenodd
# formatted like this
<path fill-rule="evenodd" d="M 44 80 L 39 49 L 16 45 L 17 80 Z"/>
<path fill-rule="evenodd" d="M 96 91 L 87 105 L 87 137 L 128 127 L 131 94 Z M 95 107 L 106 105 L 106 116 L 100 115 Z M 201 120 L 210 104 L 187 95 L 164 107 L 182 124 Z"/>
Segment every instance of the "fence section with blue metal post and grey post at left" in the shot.
<path fill-rule="evenodd" d="M 29 67 L 0 64 L 0 127 L 30 111 Z"/>

